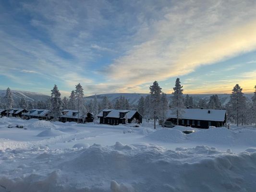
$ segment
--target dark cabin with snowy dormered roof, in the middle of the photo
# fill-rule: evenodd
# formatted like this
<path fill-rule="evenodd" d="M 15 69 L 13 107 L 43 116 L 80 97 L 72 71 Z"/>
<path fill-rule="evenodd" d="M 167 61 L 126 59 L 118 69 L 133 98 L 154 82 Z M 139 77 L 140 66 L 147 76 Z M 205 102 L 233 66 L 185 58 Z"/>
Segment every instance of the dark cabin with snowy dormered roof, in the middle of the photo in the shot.
<path fill-rule="evenodd" d="M 128 123 L 131 123 L 134 118 L 139 123 L 142 123 L 142 116 L 136 110 L 118 110 L 118 109 L 103 109 L 99 114 L 99 122 L 103 124 L 125 124 L 127 118 Z"/>

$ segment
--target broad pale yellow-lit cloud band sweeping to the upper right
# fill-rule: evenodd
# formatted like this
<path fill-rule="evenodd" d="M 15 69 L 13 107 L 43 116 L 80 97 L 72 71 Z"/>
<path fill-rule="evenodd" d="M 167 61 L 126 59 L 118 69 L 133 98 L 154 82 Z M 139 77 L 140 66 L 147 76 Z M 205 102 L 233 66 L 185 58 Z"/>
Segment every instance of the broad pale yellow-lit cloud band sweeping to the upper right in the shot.
<path fill-rule="evenodd" d="M 148 39 L 116 59 L 104 73 L 127 87 L 182 76 L 201 65 L 253 51 L 256 20 L 250 19 L 256 16 L 255 7 L 251 1 L 182 1 L 163 9 L 162 19 L 137 33 L 136 39 Z"/>

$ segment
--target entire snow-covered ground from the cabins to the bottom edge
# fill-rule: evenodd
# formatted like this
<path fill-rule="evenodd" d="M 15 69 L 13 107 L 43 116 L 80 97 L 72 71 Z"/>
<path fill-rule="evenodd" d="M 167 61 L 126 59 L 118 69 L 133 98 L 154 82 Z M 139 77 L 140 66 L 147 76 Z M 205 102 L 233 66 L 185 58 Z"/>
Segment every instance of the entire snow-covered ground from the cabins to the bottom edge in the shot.
<path fill-rule="evenodd" d="M 0 192 L 255 191 L 256 127 L 0 118 Z"/>

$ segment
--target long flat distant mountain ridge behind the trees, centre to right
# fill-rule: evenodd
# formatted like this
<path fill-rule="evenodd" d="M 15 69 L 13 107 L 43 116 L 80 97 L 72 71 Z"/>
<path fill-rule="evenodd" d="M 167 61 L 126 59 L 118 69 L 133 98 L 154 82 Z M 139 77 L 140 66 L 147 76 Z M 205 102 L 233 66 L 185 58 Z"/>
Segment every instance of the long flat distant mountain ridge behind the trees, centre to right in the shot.
<path fill-rule="evenodd" d="M 138 104 L 138 101 L 140 99 L 141 96 L 146 97 L 149 94 L 143 94 L 143 93 L 110 93 L 110 94 L 99 94 L 97 95 L 98 100 L 102 100 L 104 96 L 107 96 L 109 98 L 109 100 L 111 102 L 114 102 L 118 97 L 120 96 L 124 96 L 126 99 L 128 99 L 129 103 L 132 105 L 136 105 Z M 193 101 L 194 103 L 198 103 L 200 98 L 206 99 L 206 101 L 208 102 L 210 99 L 210 96 L 212 95 L 218 95 L 219 96 L 219 100 L 221 102 L 222 105 L 226 105 L 229 100 L 230 100 L 230 94 L 188 94 L 189 96 L 193 97 Z M 171 99 L 171 94 L 167 94 L 168 99 Z M 184 96 L 186 96 L 186 94 L 184 94 Z M 247 101 L 250 101 L 253 94 L 244 94 L 244 96 L 246 97 Z M 93 96 L 86 96 L 85 100 L 89 101 L 90 99 L 93 99 Z"/>

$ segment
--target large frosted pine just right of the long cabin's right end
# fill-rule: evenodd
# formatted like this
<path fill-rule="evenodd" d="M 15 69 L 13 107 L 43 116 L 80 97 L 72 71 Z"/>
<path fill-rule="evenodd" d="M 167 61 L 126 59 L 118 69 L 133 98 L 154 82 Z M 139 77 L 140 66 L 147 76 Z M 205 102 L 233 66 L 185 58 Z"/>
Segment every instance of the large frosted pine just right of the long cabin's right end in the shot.
<path fill-rule="evenodd" d="M 243 88 L 236 84 L 232 89 L 230 101 L 227 104 L 229 117 L 235 120 L 237 126 L 239 122 L 243 122 L 243 116 L 246 112 L 246 100 L 242 90 Z"/>

